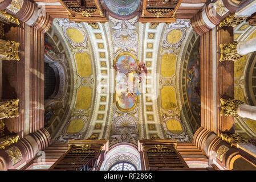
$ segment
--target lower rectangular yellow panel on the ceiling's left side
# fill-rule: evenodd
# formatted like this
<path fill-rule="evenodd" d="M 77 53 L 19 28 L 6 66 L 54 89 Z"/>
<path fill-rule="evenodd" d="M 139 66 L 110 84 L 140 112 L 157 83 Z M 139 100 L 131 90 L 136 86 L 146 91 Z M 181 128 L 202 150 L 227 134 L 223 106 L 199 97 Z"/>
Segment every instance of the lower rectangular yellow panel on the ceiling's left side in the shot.
<path fill-rule="evenodd" d="M 92 89 L 88 86 L 81 86 L 76 93 L 75 109 L 89 109 L 92 100 Z"/>

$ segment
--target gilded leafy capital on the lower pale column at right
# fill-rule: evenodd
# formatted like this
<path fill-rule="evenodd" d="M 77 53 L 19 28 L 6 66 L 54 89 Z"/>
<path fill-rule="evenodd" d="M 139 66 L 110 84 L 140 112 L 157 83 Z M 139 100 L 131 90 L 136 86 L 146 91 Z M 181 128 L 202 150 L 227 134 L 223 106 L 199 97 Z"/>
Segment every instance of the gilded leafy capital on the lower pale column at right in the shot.
<path fill-rule="evenodd" d="M 241 104 L 243 102 L 239 100 L 221 98 L 221 115 L 238 117 L 237 109 Z"/>

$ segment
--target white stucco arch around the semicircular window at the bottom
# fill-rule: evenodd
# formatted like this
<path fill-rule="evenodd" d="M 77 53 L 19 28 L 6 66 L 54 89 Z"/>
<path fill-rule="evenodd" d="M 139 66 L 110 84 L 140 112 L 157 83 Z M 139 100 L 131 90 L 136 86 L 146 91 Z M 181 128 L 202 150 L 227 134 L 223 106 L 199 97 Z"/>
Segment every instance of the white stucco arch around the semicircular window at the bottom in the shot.
<path fill-rule="evenodd" d="M 128 143 L 112 146 L 101 165 L 101 171 L 108 171 L 116 164 L 131 164 L 137 170 L 141 170 L 140 153 L 135 146 Z"/>

